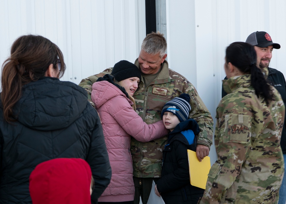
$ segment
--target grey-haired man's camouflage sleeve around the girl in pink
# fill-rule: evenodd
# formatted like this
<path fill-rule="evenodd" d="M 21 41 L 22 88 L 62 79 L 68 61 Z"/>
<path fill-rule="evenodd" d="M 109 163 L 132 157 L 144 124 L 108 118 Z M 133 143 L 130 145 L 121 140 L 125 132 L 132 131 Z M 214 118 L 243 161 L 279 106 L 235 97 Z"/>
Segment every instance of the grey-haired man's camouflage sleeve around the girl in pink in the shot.
<path fill-rule="evenodd" d="M 111 71 L 112 71 L 112 68 L 105 69 L 103 72 L 100 72 L 99 74 L 92 75 L 90 77 L 82 79 L 81 82 L 79 83 L 79 86 L 84 88 L 87 91 L 87 100 L 90 102 L 90 104 L 94 108 L 95 108 L 95 105 L 91 100 L 92 84 L 95 83 L 99 77 L 103 77 L 105 74 L 110 74 Z"/>

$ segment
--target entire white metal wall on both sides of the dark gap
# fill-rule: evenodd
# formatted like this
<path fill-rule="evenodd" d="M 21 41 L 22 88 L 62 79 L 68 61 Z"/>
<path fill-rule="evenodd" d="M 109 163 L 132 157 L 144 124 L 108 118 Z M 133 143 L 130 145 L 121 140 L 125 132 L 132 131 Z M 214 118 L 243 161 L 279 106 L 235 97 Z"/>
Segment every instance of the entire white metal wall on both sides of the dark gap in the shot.
<path fill-rule="evenodd" d="M 215 117 L 225 47 L 267 31 L 281 49 L 270 66 L 286 75 L 284 0 L 166 0 L 168 62 L 197 88 Z M 64 53 L 62 78 L 76 84 L 122 59 L 133 62 L 145 37 L 145 0 L 0 0 L 0 63 L 13 41 L 43 35 Z M 211 148 L 211 161 L 215 161 Z"/>

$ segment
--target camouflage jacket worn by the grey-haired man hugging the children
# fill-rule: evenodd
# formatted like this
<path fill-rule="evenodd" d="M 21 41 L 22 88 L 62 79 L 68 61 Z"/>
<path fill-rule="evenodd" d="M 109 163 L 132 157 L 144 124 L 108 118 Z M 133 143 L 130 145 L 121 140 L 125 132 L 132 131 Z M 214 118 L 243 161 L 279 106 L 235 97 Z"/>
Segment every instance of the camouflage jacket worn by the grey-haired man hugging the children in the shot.
<path fill-rule="evenodd" d="M 138 59 L 135 61 L 135 65 L 139 67 Z M 112 68 L 106 69 L 102 73 L 90 76 L 80 82 L 79 85 L 88 91 L 88 100 L 91 103 L 92 84 L 96 82 L 98 77 L 107 73 L 110 74 L 111 71 Z M 210 147 L 213 135 L 212 116 L 200 99 L 195 87 L 182 75 L 169 69 L 167 61 L 164 61 L 161 72 L 147 88 L 145 88 L 144 80 L 141 79 L 138 89 L 133 95 L 136 102 L 136 112 L 147 124 L 155 123 L 162 120 L 161 110 L 165 103 L 182 93 L 188 93 L 191 96 L 190 117 L 195 119 L 200 127 L 197 144 Z M 135 177 L 161 177 L 162 151 L 166 141 L 167 137 L 150 142 L 139 142 L 131 137 L 130 151 Z"/>

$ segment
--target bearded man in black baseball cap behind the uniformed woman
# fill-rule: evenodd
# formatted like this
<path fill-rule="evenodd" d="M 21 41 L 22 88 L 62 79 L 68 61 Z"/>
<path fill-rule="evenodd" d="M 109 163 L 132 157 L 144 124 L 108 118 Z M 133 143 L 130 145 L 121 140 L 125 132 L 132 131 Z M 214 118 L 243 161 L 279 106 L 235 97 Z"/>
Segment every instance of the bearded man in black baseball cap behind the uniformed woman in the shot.
<path fill-rule="evenodd" d="M 268 81 L 269 83 L 274 86 L 277 91 L 279 91 L 284 105 L 286 106 L 286 82 L 283 74 L 278 71 L 277 69 L 273 69 L 269 67 L 270 60 L 272 58 L 272 51 L 273 49 L 280 49 L 280 45 L 278 43 L 273 43 L 270 35 L 265 31 L 256 31 L 251 33 L 246 41 L 253 45 L 256 54 L 257 54 L 257 66 L 260 68 L 267 67 L 269 74 L 268 74 Z M 227 78 L 224 78 L 227 79 Z M 227 93 L 222 88 L 222 97 L 224 97 Z M 286 116 L 286 114 L 285 114 Z M 285 118 L 286 119 L 286 118 Z M 286 169 L 286 128 L 285 128 L 285 119 L 283 124 L 283 131 L 281 135 L 281 149 L 283 152 L 284 157 L 284 165 Z M 278 204 L 285 204 L 286 202 L 286 171 L 284 171 L 284 177 L 282 181 L 281 188 L 279 190 L 279 203 Z"/>

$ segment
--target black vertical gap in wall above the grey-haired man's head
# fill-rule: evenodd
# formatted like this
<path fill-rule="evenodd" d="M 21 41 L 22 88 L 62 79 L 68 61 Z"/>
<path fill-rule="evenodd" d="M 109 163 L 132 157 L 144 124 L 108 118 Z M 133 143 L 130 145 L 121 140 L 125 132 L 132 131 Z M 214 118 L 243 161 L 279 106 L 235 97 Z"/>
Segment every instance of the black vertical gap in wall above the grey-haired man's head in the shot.
<path fill-rule="evenodd" d="M 145 0 L 146 35 L 156 32 L 156 1 Z"/>

